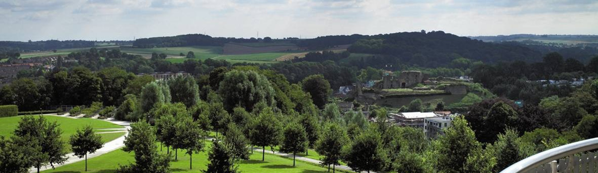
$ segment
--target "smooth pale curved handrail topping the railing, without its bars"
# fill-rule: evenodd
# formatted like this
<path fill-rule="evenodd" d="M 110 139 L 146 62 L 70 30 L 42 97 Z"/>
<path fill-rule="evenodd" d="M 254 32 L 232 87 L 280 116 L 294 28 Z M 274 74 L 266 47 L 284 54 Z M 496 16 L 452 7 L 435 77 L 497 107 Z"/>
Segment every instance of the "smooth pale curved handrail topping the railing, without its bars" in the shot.
<path fill-rule="evenodd" d="M 598 138 L 577 141 L 575 143 L 546 150 L 509 166 L 507 169 L 502 170 L 501 173 L 527 172 L 544 163 L 593 149 L 598 149 Z"/>

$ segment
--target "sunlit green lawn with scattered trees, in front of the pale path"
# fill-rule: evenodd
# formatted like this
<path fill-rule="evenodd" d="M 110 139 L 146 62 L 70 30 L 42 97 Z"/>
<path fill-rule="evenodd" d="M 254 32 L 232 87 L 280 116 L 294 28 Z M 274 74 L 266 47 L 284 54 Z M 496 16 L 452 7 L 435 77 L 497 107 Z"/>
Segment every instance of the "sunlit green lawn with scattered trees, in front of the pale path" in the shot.
<path fill-rule="evenodd" d="M 211 147 L 210 142 L 207 142 L 206 150 Z M 159 150 L 159 149 L 158 149 Z M 166 153 L 166 148 L 163 148 L 162 153 Z M 89 159 L 88 172 L 115 172 L 118 165 L 127 165 L 135 162 L 133 153 L 126 153 L 123 150 L 115 150 L 106 153 L 102 156 L 97 156 Z M 270 173 L 270 172 L 285 172 L 285 173 L 318 173 L 327 172 L 327 168 L 313 165 L 313 163 L 301 162 L 297 160 L 297 165 L 292 166 L 292 159 L 270 155 L 266 152 L 265 161 L 261 161 L 261 152 L 254 152 L 249 160 L 242 160 L 239 162 L 239 171 L 251 173 Z M 182 150 L 178 152 L 178 160 L 170 162 L 170 169 L 172 172 L 200 172 L 207 168 L 207 152 L 201 152 L 193 155 L 193 169 L 189 169 L 189 156 L 185 155 Z M 77 162 L 70 165 L 60 166 L 54 170 L 47 170 L 42 172 L 62 172 L 75 173 L 84 172 L 85 163 Z"/>

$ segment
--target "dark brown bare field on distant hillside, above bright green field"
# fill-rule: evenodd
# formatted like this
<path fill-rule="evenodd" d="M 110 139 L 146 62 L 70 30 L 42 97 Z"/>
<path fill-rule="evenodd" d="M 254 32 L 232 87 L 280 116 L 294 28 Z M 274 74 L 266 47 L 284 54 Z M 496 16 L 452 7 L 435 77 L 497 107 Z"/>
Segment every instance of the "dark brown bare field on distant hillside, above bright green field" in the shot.
<path fill-rule="evenodd" d="M 270 46 L 270 47 L 248 47 L 238 44 L 224 44 L 222 47 L 222 54 L 238 55 L 238 54 L 255 54 L 263 52 L 277 52 L 286 50 L 297 50 L 297 46 Z"/>

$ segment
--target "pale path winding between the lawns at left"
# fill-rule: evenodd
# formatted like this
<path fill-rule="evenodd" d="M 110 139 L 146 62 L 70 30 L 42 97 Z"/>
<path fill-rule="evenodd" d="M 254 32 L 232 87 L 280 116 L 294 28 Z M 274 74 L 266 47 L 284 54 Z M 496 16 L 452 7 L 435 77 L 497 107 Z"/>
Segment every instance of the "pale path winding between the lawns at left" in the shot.
<path fill-rule="evenodd" d="M 73 117 L 73 116 L 69 116 L 69 115 L 56 115 L 56 113 L 53 114 L 44 114 L 44 116 L 62 116 L 62 117 L 66 117 L 66 118 L 74 118 L 77 119 L 78 117 Z M 111 123 L 114 123 L 116 125 L 121 125 L 124 126 L 123 129 L 126 129 L 126 131 L 114 131 L 114 132 L 126 132 L 126 134 L 124 134 L 122 137 L 116 138 L 115 140 L 109 141 L 108 143 L 105 143 L 103 145 L 102 148 L 96 150 L 95 153 L 93 154 L 87 154 L 87 159 L 91 159 L 93 157 L 97 157 L 100 155 L 103 155 L 105 153 L 109 153 L 112 152 L 114 150 L 120 149 L 121 147 L 124 147 L 124 137 L 126 137 L 127 135 L 129 135 L 129 129 L 130 129 L 130 122 L 126 122 L 126 121 L 118 121 L 114 118 L 108 118 L 108 119 L 103 119 L 103 121 L 108 121 Z M 106 133 L 106 132 L 96 132 L 96 133 Z M 83 158 L 79 158 L 77 156 L 74 156 L 74 153 L 68 153 L 66 154 L 66 157 L 68 157 L 68 159 L 65 161 L 65 163 L 60 164 L 60 165 L 54 165 L 54 167 L 60 167 L 60 166 L 64 166 L 64 165 L 68 165 L 71 163 L 75 163 L 75 162 L 79 162 L 79 161 L 83 161 L 85 160 L 85 157 Z M 46 165 L 46 166 L 42 166 L 42 168 L 39 169 L 39 171 L 44 171 L 44 170 L 48 170 L 48 169 L 52 169 L 52 166 L 50 165 Z M 29 172 L 37 172 L 36 168 L 32 168 L 29 169 Z"/>

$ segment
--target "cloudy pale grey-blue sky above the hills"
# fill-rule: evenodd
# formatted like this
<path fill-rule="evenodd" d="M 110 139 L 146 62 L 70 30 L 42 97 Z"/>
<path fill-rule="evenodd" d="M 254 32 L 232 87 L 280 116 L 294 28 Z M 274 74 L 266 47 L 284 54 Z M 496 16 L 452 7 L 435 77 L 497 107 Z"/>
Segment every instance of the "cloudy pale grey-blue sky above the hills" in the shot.
<path fill-rule="evenodd" d="M 596 0 L 0 0 L 0 40 L 598 35 Z M 259 35 L 258 35 L 259 33 Z"/>

